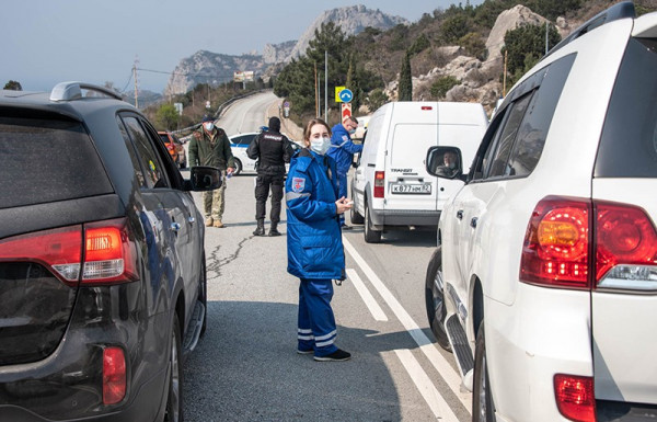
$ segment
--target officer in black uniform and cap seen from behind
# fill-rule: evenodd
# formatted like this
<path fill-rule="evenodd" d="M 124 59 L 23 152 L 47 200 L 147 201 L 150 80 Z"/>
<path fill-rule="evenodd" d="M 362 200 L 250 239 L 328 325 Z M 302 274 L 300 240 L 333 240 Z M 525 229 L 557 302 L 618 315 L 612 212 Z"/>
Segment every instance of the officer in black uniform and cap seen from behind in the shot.
<path fill-rule="evenodd" d="M 283 180 L 285 163 L 290 162 L 293 150 L 290 140 L 280 134 L 280 119 L 269 118 L 267 130 L 257 135 L 249 145 L 246 155 L 252 160 L 258 160 L 257 178 L 255 180 L 255 220 L 257 228 L 254 236 L 265 236 L 265 209 L 269 187 L 272 189 L 272 227 L 269 236 L 280 236 L 277 229 L 280 220 L 280 199 L 283 198 Z"/>

